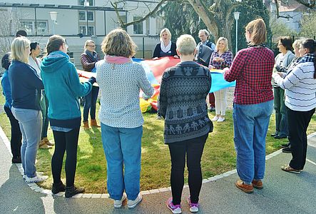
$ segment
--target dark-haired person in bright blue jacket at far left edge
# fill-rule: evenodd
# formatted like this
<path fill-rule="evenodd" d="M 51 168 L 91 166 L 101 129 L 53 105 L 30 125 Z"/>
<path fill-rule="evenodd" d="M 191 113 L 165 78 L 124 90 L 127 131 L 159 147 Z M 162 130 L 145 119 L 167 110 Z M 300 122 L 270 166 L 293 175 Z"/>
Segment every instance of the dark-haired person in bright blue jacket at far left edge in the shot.
<path fill-rule="evenodd" d="M 1 78 L 1 86 L 4 96 L 6 97 L 6 103 L 4 104 L 4 111 L 6 116 L 8 116 L 11 125 L 11 153 L 12 153 L 12 163 L 21 163 L 21 141 L 22 134 L 19 126 L 19 121 L 14 118 L 11 107 L 12 107 L 12 97 L 11 97 L 11 86 L 9 81 L 9 66 L 11 61 L 9 60 L 10 53 L 4 54 L 1 59 L 2 68 L 6 69 L 4 71 L 4 76 Z"/>

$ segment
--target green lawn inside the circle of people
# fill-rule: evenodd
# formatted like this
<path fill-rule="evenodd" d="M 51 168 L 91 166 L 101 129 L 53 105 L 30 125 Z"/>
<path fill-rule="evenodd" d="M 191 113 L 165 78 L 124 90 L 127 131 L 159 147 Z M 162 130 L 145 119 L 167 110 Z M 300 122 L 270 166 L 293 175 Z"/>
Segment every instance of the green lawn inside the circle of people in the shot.
<path fill-rule="evenodd" d="M 3 105 L 4 97 L 0 97 L 0 104 Z M 97 105 L 97 108 L 99 106 Z M 98 109 L 97 109 L 98 112 Z M 210 118 L 213 118 L 210 113 Z M 170 155 L 168 146 L 163 143 L 163 121 L 156 120 L 156 114 L 144 113 L 145 123 L 143 125 L 142 139 L 142 170 L 141 190 L 163 188 L 170 186 Z M 214 131 L 210 133 L 205 144 L 202 157 L 203 178 L 210 178 L 213 175 L 224 173 L 235 168 L 235 148 L 233 143 L 233 120 L 232 111 L 227 111 L 224 123 L 214 123 Z M 275 140 L 270 137 L 275 131 L 274 115 L 271 116 L 269 130 L 266 138 L 266 153 L 272 153 L 280 149 L 280 144 L 287 142 L 287 139 Z M 6 114 L 0 113 L 0 126 L 6 136 L 10 138 L 10 123 Z M 307 133 L 316 131 L 316 116 L 312 117 Z M 52 131 L 49 128 L 49 140 L 53 141 Z M 47 189 L 51 188 L 51 156 L 53 149 L 39 149 L 37 154 L 37 170 L 44 171 L 49 175 L 49 180 L 41 183 Z M 276 163 L 282 164 L 282 163 Z M 187 171 L 185 171 L 187 174 Z M 65 173 L 62 172 L 63 182 Z M 187 180 L 185 180 L 187 182 Z M 76 170 L 76 185 L 84 186 L 86 193 L 107 193 L 106 191 L 106 158 L 103 153 L 101 141 L 101 129 L 92 128 L 85 131 L 80 130 L 78 143 L 78 162 Z"/>

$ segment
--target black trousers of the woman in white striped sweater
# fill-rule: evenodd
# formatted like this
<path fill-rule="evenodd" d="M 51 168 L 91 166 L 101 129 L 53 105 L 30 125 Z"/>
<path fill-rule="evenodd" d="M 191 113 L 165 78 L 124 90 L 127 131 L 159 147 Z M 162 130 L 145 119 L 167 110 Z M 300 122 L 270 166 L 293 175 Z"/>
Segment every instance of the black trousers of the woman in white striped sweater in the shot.
<path fill-rule="evenodd" d="M 287 121 L 289 125 L 289 140 L 291 144 L 292 160 L 290 167 L 297 170 L 304 168 L 307 153 L 307 127 L 315 108 L 310 111 L 292 111 L 287 108 Z"/>

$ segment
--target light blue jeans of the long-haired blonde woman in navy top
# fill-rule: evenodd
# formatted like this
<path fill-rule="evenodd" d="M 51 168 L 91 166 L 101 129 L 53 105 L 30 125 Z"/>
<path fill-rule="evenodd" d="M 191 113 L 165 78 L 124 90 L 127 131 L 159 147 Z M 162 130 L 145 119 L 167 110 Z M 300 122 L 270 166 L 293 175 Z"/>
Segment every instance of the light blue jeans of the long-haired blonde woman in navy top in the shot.
<path fill-rule="evenodd" d="M 29 178 L 36 176 L 36 153 L 41 140 L 42 117 L 41 111 L 34 109 L 11 109 L 14 117 L 19 121 L 22 133 L 21 161 L 24 174 Z"/>

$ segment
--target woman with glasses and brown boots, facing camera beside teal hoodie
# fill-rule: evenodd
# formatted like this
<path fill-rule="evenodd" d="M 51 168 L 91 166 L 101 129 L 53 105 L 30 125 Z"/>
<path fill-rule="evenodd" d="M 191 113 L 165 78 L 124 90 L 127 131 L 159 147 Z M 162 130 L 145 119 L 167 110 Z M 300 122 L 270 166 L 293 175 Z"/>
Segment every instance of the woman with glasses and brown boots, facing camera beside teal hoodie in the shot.
<path fill-rule="evenodd" d="M 84 71 L 96 73 L 96 62 L 99 56 L 96 53 L 96 44 L 92 40 L 87 40 L 84 44 L 84 52 L 80 57 L 81 65 Z M 84 97 L 83 106 L 83 127 L 89 128 L 88 114 L 90 111 L 90 125 L 92 127 L 100 127 L 96 123 L 96 101 L 98 99 L 98 86 L 92 86 L 92 90 Z"/>

